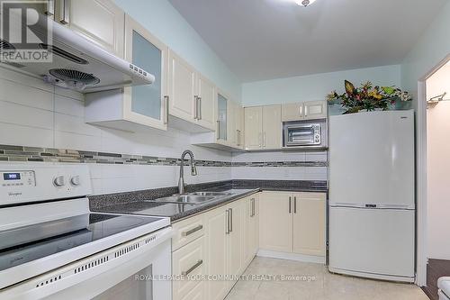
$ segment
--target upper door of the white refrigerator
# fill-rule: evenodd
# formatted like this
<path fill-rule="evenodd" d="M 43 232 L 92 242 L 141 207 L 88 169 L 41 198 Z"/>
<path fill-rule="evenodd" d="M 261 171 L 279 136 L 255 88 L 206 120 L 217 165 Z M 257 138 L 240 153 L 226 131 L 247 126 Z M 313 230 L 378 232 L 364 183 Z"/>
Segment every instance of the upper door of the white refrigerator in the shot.
<path fill-rule="evenodd" d="M 331 116 L 330 205 L 414 208 L 412 111 Z"/>

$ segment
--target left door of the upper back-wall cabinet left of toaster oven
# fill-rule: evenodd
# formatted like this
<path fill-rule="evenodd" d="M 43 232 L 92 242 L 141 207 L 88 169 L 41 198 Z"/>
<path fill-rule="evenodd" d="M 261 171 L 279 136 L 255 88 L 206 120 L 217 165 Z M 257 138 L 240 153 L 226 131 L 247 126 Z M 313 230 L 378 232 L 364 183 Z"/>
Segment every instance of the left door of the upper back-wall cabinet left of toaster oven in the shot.
<path fill-rule="evenodd" d="M 244 135 L 247 150 L 261 149 L 263 145 L 263 107 L 244 109 Z"/>

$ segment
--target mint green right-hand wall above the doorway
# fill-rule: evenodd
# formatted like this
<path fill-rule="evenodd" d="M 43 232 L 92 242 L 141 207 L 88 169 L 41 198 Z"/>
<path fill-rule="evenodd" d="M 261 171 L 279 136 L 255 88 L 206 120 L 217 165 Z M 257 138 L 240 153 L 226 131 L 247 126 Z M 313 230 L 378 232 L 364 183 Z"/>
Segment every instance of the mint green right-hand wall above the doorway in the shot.
<path fill-rule="evenodd" d="M 401 64 L 401 84 L 414 95 L 417 106 L 418 81 L 450 54 L 450 1 Z"/>

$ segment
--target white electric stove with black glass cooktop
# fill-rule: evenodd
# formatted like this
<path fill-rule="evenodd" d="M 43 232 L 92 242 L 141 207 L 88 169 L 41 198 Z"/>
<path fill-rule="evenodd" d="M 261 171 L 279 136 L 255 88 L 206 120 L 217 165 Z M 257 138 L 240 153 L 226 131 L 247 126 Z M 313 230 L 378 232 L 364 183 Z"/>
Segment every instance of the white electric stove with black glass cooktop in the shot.
<path fill-rule="evenodd" d="M 170 299 L 164 217 L 94 214 L 85 165 L 0 165 L 0 299 Z"/>

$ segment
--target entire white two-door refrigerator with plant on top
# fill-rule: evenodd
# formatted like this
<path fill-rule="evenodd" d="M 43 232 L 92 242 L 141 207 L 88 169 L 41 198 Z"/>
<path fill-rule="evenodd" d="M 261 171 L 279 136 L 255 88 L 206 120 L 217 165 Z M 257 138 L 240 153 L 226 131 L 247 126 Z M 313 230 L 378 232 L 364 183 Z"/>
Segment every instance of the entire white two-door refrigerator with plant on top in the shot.
<path fill-rule="evenodd" d="M 329 118 L 329 270 L 413 282 L 413 111 Z"/>

